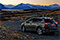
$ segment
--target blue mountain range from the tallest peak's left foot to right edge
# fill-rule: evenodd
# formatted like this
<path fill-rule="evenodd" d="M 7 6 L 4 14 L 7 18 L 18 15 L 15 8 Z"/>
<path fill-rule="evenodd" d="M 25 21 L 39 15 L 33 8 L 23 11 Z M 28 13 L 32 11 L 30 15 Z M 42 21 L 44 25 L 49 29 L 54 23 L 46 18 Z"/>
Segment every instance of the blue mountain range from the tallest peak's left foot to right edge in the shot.
<path fill-rule="evenodd" d="M 59 8 L 58 8 L 59 7 Z M 53 4 L 49 6 L 41 6 L 41 5 L 33 5 L 33 4 L 18 4 L 17 6 L 13 7 L 12 9 L 60 9 L 60 5 Z"/>

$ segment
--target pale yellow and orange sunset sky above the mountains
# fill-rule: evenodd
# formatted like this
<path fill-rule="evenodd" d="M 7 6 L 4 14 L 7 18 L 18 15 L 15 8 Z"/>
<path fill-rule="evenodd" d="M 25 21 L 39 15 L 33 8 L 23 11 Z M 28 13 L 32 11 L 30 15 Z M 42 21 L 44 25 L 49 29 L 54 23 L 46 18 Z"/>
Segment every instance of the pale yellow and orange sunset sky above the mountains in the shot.
<path fill-rule="evenodd" d="M 0 0 L 0 3 L 5 5 L 18 5 L 20 3 L 29 3 L 34 5 L 51 5 L 51 4 L 59 4 L 60 0 Z"/>

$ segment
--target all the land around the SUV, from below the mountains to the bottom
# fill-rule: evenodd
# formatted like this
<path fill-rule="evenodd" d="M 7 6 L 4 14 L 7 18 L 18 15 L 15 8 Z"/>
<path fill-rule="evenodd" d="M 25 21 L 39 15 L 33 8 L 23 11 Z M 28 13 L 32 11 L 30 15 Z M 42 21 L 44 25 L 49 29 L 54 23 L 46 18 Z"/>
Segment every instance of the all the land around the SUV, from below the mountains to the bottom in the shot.
<path fill-rule="evenodd" d="M 54 34 L 38 35 L 36 32 L 22 32 L 20 24 L 29 16 L 49 16 L 60 23 L 60 9 L 40 9 L 40 10 L 0 10 L 0 40 L 60 40 L 59 36 Z"/>

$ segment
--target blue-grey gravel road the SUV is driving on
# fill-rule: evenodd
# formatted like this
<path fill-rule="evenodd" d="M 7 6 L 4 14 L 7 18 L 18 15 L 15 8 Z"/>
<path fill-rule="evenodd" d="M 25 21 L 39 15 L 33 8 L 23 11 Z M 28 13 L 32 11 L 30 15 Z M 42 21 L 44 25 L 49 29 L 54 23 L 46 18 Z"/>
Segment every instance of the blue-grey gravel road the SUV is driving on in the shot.
<path fill-rule="evenodd" d="M 22 31 L 20 30 L 20 24 L 24 21 L 14 21 L 14 22 L 6 22 L 6 21 L 1 21 L 4 24 L 4 27 L 8 26 L 11 29 L 15 29 L 18 33 L 21 33 Z M 27 35 L 29 35 L 30 37 L 34 38 L 34 40 L 60 40 L 60 25 L 58 25 L 58 29 L 59 29 L 59 36 L 55 36 L 54 34 L 43 34 L 43 35 L 38 35 L 36 32 L 33 31 L 27 31 L 27 32 L 22 32 L 25 33 Z M 1 30 L 1 29 L 0 29 Z"/>

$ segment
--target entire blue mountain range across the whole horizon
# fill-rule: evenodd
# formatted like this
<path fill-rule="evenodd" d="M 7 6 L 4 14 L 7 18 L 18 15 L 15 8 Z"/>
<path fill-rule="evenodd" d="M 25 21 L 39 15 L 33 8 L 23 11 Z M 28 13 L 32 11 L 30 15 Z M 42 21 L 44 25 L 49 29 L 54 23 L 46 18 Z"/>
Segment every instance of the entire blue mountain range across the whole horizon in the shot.
<path fill-rule="evenodd" d="M 25 10 L 25 9 L 60 9 L 60 5 L 58 4 L 52 4 L 49 6 L 41 6 L 41 5 L 33 5 L 33 4 L 18 4 L 16 6 L 14 5 L 3 5 L 0 3 L 0 9 L 20 9 L 20 10 Z"/>

